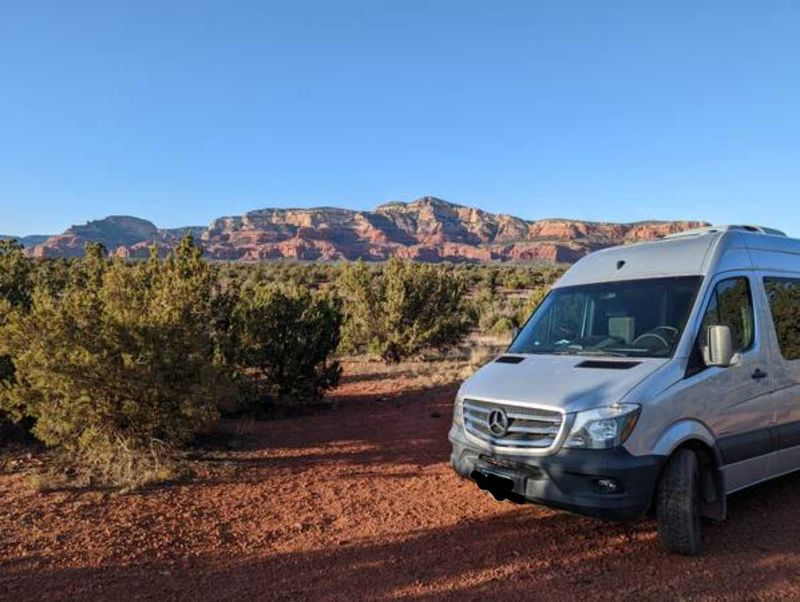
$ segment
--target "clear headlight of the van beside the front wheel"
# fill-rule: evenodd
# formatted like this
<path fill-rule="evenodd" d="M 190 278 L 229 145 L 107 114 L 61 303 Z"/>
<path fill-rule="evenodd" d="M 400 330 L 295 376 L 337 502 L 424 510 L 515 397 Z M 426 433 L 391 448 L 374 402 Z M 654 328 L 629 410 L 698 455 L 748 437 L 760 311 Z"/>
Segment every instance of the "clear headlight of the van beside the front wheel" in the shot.
<path fill-rule="evenodd" d="M 578 412 L 564 447 L 610 449 L 622 445 L 636 426 L 641 409 L 634 403 L 621 403 Z"/>

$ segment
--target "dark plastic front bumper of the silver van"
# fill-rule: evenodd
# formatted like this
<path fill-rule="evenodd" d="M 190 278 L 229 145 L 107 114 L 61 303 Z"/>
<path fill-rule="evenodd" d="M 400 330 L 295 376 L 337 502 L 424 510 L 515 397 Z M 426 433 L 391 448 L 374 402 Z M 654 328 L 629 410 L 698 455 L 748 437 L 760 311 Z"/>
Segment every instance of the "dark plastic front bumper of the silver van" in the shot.
<path fill-rule="evenodd" d="M 498 499 L 533 502 L 614 521 L 636 520 L 650 508 L 664 456 L 633 456 L 624 448 L 562 449 L 549 456 L 493 454 L 450 431 L 450 463 Z M 603 481 L 617 489 L 607 492 Z"/>

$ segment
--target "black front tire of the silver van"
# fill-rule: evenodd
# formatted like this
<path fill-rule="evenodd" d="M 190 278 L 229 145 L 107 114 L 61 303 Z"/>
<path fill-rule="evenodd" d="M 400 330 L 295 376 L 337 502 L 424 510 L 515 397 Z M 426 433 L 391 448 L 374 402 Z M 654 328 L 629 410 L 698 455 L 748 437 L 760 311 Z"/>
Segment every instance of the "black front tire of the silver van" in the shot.
<path fill-rule="evenodd" d="M 675 452 L 658 484 L 656 517 L 661 544 L 670 552 L 695 556 L 702 547 L 700 463 L 690 449 Z"/>

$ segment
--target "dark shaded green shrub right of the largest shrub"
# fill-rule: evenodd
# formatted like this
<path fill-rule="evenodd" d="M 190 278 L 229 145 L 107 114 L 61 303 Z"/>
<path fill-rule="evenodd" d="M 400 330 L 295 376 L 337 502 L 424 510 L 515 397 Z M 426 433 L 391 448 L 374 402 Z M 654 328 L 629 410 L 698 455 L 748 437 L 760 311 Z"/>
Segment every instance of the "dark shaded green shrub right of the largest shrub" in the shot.
<path fill-rule="evenodd" d="M 336 386 L 339 303 L 298 285 L 260 284 L 242 293 L 233 311 L 234 363 L 251 407 L 302 404 Z"/>

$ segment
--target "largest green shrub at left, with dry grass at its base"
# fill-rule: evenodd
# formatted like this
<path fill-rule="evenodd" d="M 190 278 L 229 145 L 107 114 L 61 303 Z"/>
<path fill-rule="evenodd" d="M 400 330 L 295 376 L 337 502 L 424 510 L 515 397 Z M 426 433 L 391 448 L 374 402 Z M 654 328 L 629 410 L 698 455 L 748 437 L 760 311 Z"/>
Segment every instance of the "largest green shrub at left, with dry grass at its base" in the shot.
<path fill-rule="evenodd" d="M 225 382 L 209 327 L 215 276 L 191 238 L 167 260 L 107 262 L 87 245 L 60 294 L 37 286 L 30 311 L 6 302 L 0 352 L 16 379 L 0 407 L 97 474 L 121 479 L 131 454 L 181 445 L 217 418 Z M 103 466 L 100 466 L 100 465 Z"/>

